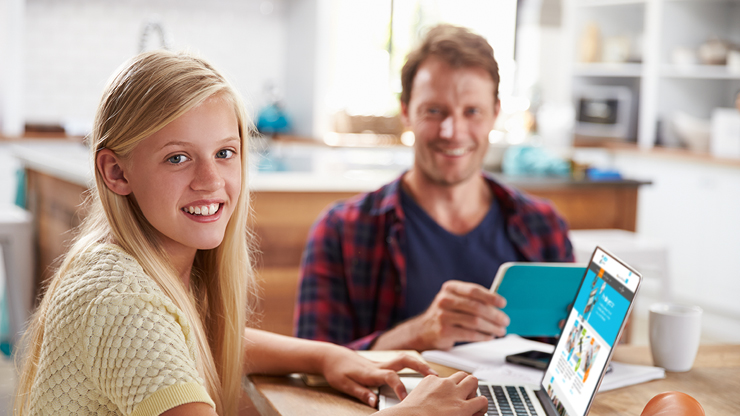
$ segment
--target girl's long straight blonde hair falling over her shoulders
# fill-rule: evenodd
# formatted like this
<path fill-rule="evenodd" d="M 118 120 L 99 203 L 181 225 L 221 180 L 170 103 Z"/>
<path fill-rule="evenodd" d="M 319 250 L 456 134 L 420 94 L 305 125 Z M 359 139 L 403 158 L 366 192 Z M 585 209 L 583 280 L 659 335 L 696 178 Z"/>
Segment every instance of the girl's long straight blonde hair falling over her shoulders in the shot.
<path fill-rule="evenodd" d="M 104 148 L 126 158 L 142 140 L 216 94 L 233 104 L 239 122 L 241 194 L 221 244 L 197 252 L 188 292 L 134 198 L 108 189 L 95 158 Z M 90 138 L 96 186 L 88 196 L 89 214 L 24 335 L 27 351 L 21 364 L 16 414 L 23 414 L 28 407 L 49 300 L 75 259 L 105 241 L 115 241 L 138 260 L 185 313 L 194 329 L 198 371 L 216 403 L 216 411 L 221 415 L 236 414 L 244 364 L 243 334 L 252 312 L 249 301 L 254 298 L 250 296 L 254 293 L 254 280 L 247 231 L 247 140 L 252 131 L 244 104 L 226 79 L 210 64 L 189 54 L 143 53 L 127 62 L 111 79 L 98 106 Z"/>

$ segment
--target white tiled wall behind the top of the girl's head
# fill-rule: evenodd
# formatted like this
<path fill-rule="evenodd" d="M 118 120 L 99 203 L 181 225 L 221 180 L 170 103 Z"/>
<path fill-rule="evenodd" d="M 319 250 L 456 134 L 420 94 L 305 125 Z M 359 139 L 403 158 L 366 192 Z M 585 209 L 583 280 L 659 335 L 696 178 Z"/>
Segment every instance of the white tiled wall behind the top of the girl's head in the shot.
<path fill-rule="evenodd" d="M 285 8 L 282 0 L 26 0 L 25 119 L 90 122 L 108 77 L 138 52 L 152 17 L 174 50 L 212 62 L 257 111 L 265 82 L 285 89 Z M 149 45 L 158 43 L 150 36 Z"/>

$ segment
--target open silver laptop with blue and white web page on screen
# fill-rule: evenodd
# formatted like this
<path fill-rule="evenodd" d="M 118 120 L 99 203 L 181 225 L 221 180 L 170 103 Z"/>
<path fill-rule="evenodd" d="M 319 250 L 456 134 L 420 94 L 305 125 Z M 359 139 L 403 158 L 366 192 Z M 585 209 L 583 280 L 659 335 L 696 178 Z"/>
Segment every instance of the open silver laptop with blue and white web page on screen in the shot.
<path fill-rule="evenodd" d="M 489 416 L 585 416 L 624 330 L 642 277 L 596 247 L 538 389 L 479 383 Z"/>

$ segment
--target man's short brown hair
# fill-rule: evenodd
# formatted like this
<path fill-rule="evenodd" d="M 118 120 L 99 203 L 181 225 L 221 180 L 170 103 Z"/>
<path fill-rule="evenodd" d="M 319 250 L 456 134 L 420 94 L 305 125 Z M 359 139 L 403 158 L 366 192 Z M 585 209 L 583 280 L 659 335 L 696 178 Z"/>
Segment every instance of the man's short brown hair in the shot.
<path fill-rule="evenodd" d="M 498 101 L 498 63 L 493 48 L 482 36 L 470 30 L 441 24 L 427 32 L 421 45 L 411 51 L 401 69 L 401 102 L 409 104 L 411 87 L 419 66 L 425 59 L 435 57 L 452 68 L 479 67 L 486 70 L 493 80 L 494 103 Z"/>

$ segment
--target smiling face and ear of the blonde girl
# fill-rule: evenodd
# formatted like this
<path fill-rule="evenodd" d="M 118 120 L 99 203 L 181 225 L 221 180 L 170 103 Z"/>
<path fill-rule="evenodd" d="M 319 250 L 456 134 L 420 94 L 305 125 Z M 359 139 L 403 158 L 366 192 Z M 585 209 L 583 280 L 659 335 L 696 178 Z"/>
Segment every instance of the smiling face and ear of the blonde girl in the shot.
<path fill-rule="evenodd" d="M 241 190 L 241 151 L 234 106 L 210 97 L 118 160 L 121 178 L 109 188 L 133 196 L 173 259 L 192 262 L 224 238 Z"/>

